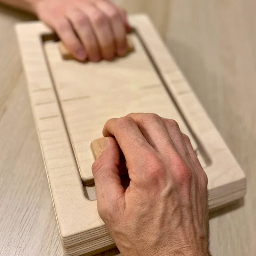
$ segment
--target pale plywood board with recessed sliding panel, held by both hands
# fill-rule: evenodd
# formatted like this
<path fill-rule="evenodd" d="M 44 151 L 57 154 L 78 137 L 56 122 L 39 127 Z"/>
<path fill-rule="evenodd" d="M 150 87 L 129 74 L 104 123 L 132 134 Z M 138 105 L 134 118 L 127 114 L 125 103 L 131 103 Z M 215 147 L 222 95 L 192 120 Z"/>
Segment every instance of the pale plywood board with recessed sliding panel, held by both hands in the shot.
<path fill-rule="evenodd" d="M 245 194 L 245 176 L 146 15 L 129 17 L 134 52 L 100 63 L 63 60 L 41 22 L 17 25 L 28 92 L 65 255 L 114 242 L 97 213 L 92 140 L 130 112 L 175 119 L 208 175 L 209 207 Z"/>

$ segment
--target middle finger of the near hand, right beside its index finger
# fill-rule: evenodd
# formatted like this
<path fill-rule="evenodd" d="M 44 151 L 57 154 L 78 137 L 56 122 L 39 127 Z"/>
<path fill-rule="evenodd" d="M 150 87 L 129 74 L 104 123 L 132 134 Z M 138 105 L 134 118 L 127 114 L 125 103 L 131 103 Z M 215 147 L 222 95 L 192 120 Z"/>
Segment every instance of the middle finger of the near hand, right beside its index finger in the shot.
<path fill-rule="evenodd" d="M 163 155 L 177 155 L 174 143 L 160 116 L 152 113 L 131 113 L 127 116 L 132 117 L 140 132 L 157 152 Z"/>

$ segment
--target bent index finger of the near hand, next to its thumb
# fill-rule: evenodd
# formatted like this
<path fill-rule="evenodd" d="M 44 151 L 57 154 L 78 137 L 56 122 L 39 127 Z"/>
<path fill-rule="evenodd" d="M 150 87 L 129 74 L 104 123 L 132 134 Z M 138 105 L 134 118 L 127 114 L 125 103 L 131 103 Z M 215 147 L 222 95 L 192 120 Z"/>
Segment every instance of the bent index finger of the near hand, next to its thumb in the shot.
<path fill-rule="evenodd" d="M 115 137 L 127 162 L 128 172 L 133 164 L 142 163 L 145 152 L 154 149 L 148 144 L 132 117 L 125 116 L 108 120 L 103 128 L 105 137 Z"/>

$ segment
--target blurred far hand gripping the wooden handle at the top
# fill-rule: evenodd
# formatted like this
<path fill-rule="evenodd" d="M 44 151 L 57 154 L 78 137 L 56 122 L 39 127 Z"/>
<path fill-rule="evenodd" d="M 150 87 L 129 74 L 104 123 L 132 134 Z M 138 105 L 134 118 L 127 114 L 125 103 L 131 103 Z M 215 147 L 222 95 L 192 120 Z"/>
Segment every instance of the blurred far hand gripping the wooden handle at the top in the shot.
<path fill-rule="evenodd" d="M 127 51 L 126 13 L 109 0 L 38 0 L 35 12 L 78 60 L 111 60 Z"/>

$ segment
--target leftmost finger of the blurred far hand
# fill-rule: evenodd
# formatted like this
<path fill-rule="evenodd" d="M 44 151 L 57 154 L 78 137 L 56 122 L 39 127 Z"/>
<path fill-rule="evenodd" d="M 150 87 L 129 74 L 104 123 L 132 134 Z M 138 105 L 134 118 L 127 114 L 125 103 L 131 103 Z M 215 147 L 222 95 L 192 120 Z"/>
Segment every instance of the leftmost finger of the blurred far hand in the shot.
<path fill-rule="evenodd" d="M 53 26 L 54 30 L 68 48 L 69 52 L 78 60 L 84 60 L 86 58 L 86 52 L 77 38 L 71 24 L 65 18 L 59 19 Z"/>

